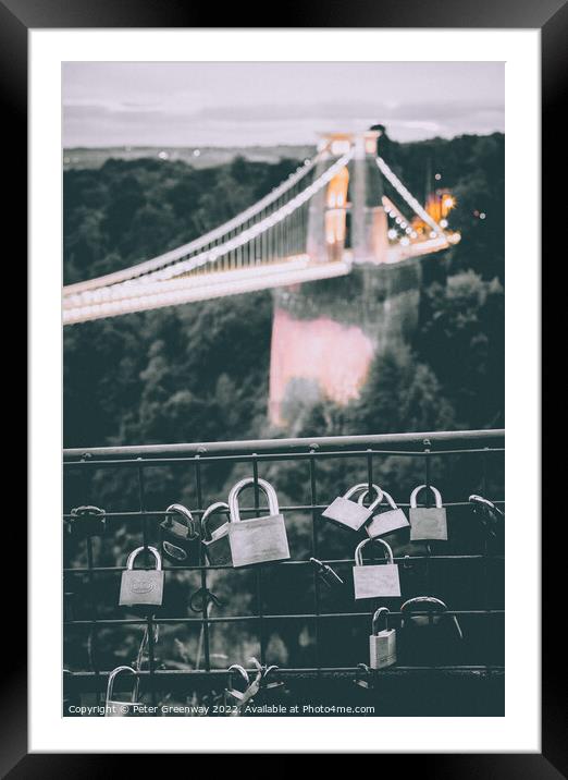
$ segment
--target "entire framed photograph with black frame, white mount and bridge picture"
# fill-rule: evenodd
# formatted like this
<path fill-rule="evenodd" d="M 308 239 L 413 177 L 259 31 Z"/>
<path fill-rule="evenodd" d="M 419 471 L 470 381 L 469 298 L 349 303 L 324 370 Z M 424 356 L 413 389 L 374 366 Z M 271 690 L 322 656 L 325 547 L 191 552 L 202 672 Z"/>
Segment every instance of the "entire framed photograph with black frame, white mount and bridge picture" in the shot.
<path fill-rule="evenodd" d="M 566 773 L 538 218 L 566 5 L 0 13 L 32 357 L 3 772 Z"/>

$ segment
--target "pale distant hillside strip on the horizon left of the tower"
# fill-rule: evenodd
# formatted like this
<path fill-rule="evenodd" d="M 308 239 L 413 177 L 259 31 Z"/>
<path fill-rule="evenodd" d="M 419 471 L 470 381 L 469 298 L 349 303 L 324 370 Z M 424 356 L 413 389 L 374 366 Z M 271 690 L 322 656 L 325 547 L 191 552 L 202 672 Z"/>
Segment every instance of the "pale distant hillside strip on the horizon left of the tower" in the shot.
<path fill-rule="evenodd" d="M 63 150 L 63 169 L 100 168 L 108 159 L 138 160 L 183 160 L 193 168 L 211 168 L 244 157 L 250 162 L 279 162 L 282 159 L 300 160 L 311 157 L 314 146 L 109 146 L 87 149 L 83 147 Z"/>

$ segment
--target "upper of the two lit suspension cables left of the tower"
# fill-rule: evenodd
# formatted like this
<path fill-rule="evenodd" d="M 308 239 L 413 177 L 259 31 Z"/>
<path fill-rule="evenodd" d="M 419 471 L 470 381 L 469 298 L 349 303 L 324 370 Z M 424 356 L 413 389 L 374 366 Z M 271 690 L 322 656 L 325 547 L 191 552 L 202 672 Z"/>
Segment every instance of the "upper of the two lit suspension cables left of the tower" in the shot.
<path fill-rule="evenodd" d="M 175 249 L 170 249 L 169 252 L 165 252 L 162 255 L 158 255 L 157 257 L 152 257 L 149 260 L 137 263 L 129 268 L 123 268 L 119 271 L 106 273 L 104 276 L 97 277 L 95 279 L 87 279 L 83 282 L 67 284 L 64 288 L 64 295 L 81 293 L 86 290 L 95 290 L 97 288 L 108 287 L 110 284 L 116 284 L 119 282 L 136 279 L 137 277 L 144 276 L 145 273 L 157 270 L 159 268 L 162 268 L 163 266 L 187 257 L 187 255 L 192 255 L 196 252 L 199 252 L 203 247 L 208 246 L 209 244 L 213 244 L 214 242 L 219 241 L 232 231 L 238 230 L 247 221 L 254 219 L 263 210 L 272 206 L 279 199 L 281 199 L 286 193 L 288 193 L 293 187 L 295 187 L 298 182 L 300 182 L 308 173 L 310 173 L 314 169 L 320 158 L 321 153 L 316 155 L 312 159 L 307 160 L 294 173 L 292 173 L 287 179 L 285 179 L 281 184 L 279 184 L 279 186 L 274 187 L 264 197 L 252 204 L 252 206 L 245 209 L 236 217 L 233 217 L 232 219 L 227 220 L 223 224 L 220 224 L 213 230 L 210 230 L 208 233 L 205 233 L 203 235 L 199 236 L 199 239 L 195 239 L 187 244 L 177 246 Z"/>

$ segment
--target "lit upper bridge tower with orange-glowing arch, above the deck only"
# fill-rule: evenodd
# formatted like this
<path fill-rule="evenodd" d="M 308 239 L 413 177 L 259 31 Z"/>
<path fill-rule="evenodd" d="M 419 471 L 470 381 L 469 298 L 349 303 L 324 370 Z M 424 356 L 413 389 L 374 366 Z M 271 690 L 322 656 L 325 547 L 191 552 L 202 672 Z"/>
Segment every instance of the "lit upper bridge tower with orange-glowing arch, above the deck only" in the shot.
<path fill-rule="evenodd" d="M 351 147 L 354 156 L 311 200 L 307 251 L 312 261 L 341 259 L 345 249 L 353 263 L 385 261 L 387 224 L 375 162 L 380 135 L 378 130 L 321 135 L 316 176 Z"/>

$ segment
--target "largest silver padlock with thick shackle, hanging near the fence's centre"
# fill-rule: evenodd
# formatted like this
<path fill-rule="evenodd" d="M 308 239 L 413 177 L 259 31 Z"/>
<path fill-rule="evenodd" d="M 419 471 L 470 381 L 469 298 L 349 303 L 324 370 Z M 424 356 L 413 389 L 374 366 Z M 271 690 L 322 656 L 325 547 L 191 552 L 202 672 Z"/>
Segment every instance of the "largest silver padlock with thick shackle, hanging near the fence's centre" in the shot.
<path fill-rule="evenodd" d="M 286 525 L 284 516 L 280 513 L 276 491 L 266 479 L 258 479 L 258 487 L 267 496 L 270 514 L 240 520 L 238 496 L 252 485 L 255 479 L 246 477 L 234 485 L 229 493 L 229 544 L 235 568 L 284 561 L 289 558 Z"/>

